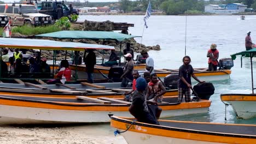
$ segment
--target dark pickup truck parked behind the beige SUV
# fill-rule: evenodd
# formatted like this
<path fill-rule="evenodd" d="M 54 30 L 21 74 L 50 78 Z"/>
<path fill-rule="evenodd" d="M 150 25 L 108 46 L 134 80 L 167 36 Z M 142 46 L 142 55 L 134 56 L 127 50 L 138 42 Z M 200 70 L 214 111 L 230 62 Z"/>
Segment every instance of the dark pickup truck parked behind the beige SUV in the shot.
<path fill-rule="evenodd" d="M 53 19 L 56 20 L 57 19 L 57 13 L 56 13 L 56 9 L 57 6 L 61 5 L 62 10 L 63 10 L 63 16 L 68 16 L 69 14 L 72 15 L 79 15 L 78 13 L 78 9 L 74 9 L 72 13 L 70 13 L 69 8 L 67 7 L 67 5 L 65 5 L 65 3 L 63 3 L 63 1 L 45 1 L 42 2 L 42 8 L 39 10 L 39 13 L 41 14 L 46 14 L 46 15 L 51 15 L 53 16 Z"/>

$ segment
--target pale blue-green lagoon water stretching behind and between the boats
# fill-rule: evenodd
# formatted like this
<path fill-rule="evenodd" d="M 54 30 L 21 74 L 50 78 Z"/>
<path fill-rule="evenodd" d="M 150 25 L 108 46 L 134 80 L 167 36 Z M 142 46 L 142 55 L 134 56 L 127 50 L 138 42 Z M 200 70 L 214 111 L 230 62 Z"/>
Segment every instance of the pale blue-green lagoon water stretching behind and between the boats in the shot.
<path fill-rule="evenodd" d="M 212 43 L 217 44 L 219 57 L 230 57 L 231 54 L 245 50 L 245 37 L 251 31 L 252 41 L 256 40 L 256 16 L 246 16 L 247 20 L 237 20 L 238 16 L 187 16 L 187 55 L 191 57 L 194 68 L 208 67 L 206 53 Z M 132 35 L 142 35 L 143 16 L 80 16 L 79 21 L 114 21 L 134 23 L 129 28 Z M 154 58 L 155 68 L 175 68 L 182 65 L 185 49 L 185 16 L 151 16 L 148 28 L 144 30 L 142 43 L 148 46 L 159 44 L 161 51 L 150 51 Z M 138 42 L 141 38 L 136 39 Z M 256 71 L 256 59 L 253 59 Z M 169 119 L 181 121 L 200 121 L 225 123 L 225 105 L 220 100 L 224 93 L 252 93 L 251 67 L 249 58 L 240 57 L 234 61 L 229 80 L 213 81 L 216 88 L 212 95 L 212 105 L 208 113 L 180 116 Z M 255 74 L 255 73 L 254 73 Z M 236 119 L 231 106 L 227 107 L 227 123 L 256 124 L 256 118 L 249 120 Z"/>

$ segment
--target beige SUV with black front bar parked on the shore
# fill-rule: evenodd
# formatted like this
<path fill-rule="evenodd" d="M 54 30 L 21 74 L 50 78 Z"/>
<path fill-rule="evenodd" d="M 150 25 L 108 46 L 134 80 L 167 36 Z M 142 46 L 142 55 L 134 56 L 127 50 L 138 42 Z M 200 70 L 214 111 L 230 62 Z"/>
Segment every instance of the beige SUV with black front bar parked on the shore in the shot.
<path fill-rule="evenodd" d="M 5 7 L 7 5 L 7 9 Z M 38 13 L 35 5 L 32 4 L 0 4 L 0 15 L 7 15 L 11 18 L 13 25 L 50 25 L 53 23 L 50 15 Z"/>

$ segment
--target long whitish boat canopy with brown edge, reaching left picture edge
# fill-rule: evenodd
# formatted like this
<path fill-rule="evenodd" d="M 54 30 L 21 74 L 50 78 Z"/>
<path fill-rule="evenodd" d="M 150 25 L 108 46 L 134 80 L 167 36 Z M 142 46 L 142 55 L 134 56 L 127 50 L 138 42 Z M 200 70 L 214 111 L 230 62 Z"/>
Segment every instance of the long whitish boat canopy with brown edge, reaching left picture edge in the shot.
<path fill-rule="evenodd" d="M 43 40 L 43 39 L 18 39 L 18 38 L 0 38 L 0 47 L 10 47 L 10 48 L 17 48 L 17 49 L 70 50 L 70 51 L 84 51 L 85 49 L 114 50 L 114 46 L 108 46 L 108 45 L 62 42 L 62 41 Z"/>

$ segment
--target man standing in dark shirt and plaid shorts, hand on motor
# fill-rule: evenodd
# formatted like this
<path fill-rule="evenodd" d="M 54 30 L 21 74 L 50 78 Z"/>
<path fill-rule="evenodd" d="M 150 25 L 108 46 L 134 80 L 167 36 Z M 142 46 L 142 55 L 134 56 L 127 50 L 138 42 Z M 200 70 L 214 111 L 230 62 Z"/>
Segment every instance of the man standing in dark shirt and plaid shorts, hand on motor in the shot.
<path fill-rule="evenodd" d="M 194 74 L 194 69 L 190 65 L 191 59 L 189 56 L 183 57 L 183 65 L 179 67 L 179 80 L 178 80 L 178 101 L 182 103 L 183 95 L 185 95 L 186 103 L 190 102 L 190 88 L 191 86 L 191 76 L 198 82 L 203 83 L 205 81 L 200 81 Z"/>

